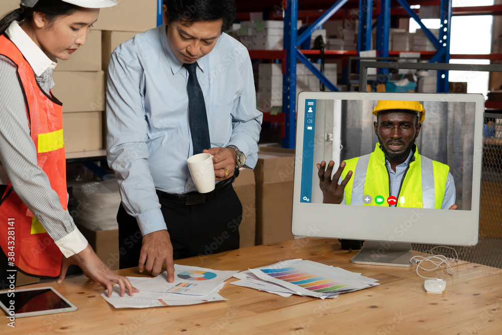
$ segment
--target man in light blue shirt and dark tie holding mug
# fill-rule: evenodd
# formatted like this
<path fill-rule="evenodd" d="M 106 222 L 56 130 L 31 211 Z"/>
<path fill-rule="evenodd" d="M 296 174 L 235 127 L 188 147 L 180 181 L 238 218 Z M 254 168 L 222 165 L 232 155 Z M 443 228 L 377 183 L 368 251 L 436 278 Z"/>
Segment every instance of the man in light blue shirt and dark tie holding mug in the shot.
<path fill-rule="evenodd" d="M 111 55 L 107 159 L 122 197 L 120 268 L 157 276 L 165 264 L 172 282 L 173 258 L 239 247 L 242 206 L 231 182 L 237 167 L 256 165 L 262 114 L 249 54 L 223 33 L 234 0 L 165 0 L 163 10 L 167 24 Z M 201 124 L 191 122 L 195 111 L 205 113 Z M 186 163 L 199 148 L 214 155 L 217 185 L 206 194 Z"/>

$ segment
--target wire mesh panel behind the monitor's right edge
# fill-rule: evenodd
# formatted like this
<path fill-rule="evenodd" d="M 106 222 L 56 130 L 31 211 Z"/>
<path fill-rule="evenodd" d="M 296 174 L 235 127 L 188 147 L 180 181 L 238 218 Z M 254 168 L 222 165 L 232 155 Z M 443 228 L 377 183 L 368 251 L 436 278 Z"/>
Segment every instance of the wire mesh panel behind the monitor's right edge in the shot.
<path fill-rule="evenodd" d="M 483 143 L 479 240 L 473 247 L 453 248 L 461 260 L 502 268 L 502 114 L 485 114 Z M 412 245 L 419 252 L 435 246 Z"/>

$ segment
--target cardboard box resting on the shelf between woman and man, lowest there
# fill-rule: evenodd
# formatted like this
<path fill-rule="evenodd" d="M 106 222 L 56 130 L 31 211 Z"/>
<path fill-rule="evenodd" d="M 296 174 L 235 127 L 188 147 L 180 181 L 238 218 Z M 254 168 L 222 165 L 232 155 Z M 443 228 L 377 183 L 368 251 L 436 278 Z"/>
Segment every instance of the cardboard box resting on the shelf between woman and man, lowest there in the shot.
<path fill-rule="evenodd" d="M 65 152 L 103 148 L 102 113 L 101 111 L 86 111 L 63 114 Z"/>

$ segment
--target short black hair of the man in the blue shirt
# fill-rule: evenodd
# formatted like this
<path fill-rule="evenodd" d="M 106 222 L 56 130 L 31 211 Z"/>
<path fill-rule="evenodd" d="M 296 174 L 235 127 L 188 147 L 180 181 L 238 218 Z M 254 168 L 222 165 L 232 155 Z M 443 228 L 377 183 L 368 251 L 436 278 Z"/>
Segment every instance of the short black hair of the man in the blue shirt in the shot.
<path fill-rule="evenodd" d="M 198 21 L 223 19 L 221 32 L 230 30 L 235 19 L 235 0 L 164 0 L 168 24 L 178 21 L 191 26 Z"/>

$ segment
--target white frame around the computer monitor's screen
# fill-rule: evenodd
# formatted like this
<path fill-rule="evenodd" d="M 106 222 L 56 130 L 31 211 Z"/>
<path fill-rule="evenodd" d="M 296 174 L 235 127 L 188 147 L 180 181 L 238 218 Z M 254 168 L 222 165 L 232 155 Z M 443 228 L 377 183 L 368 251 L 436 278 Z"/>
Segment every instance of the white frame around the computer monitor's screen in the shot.
<path fill-rule="evenodd" d="M 392 208 L 300 201 L 305 103 L 316 100 L 475 102 L 471 210 Z M 368 113 L 371 113 L 368 110 Z M 297 236 L 472 246 L 478 241 L 484 97 L 481 94 L 300 92 L 295 148 L 292 233 Z M 315 162 L 319 163 L 319 162 Z M 334 169 L 335 170 L 335 169 Z M 392 210 L 392 212 L 389 212 Z M 390 215 L 392 214 L 392 216 Z M 388 223 L 391 219 L 395 224 Z M 371 220 L 371 222 L 366 222 Z M 339 221 L 342 224 L 334 224 Z M 347 224 L 343 224 L 347 222 Z M 361 223 L 363 222 L 363 223 Z M 438 224 L 441 224 L 438 226 Z"/>

